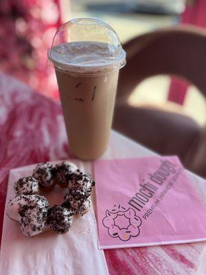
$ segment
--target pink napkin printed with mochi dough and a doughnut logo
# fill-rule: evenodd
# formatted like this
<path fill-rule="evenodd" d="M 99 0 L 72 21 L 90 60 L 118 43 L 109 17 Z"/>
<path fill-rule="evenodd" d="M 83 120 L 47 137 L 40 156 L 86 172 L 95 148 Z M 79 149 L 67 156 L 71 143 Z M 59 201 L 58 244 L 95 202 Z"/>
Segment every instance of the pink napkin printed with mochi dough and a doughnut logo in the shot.
<path fill-rule="evenodd" d="M 94 163 L 100 248 L 206 240 L 206 209 L 177 157 Z"/>

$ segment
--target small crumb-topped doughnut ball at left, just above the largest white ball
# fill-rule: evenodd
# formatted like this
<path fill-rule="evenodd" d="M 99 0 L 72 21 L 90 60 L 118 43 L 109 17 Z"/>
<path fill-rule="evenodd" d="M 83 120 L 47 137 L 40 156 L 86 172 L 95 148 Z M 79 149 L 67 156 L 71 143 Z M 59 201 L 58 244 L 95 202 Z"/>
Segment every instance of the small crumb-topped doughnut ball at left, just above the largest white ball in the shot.
<path fill-rule="evenodd" d="M 39 185 L 37 179 L 34 177 L 21 177 L 21 179 L 14 182 L 14 192 L 16 196 L 38 194 Z"/>

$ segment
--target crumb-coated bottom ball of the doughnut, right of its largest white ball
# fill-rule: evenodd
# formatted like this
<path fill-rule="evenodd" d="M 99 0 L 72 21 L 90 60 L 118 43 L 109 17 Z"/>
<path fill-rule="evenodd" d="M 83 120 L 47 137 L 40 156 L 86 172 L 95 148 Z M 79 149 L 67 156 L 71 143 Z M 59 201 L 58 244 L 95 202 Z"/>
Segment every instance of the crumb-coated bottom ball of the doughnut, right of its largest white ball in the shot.
<path fill-rule="evenodd" d="M 71 210 L 62 206 L 53 206 L 47 212 L 47 228 L 59 234 L 69 231 L 73 220 L 73 213 Z"/>

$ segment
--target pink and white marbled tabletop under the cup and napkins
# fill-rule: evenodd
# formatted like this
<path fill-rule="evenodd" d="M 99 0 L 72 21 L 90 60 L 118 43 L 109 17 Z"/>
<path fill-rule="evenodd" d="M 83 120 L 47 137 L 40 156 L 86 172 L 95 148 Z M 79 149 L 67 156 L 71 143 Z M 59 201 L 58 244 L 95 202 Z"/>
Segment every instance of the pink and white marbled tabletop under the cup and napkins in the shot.
<path fill-rule="evenodd" d="M 121 144 L 127 146 L 124 151 L 119 151 Z M 131 157 L 125 152 L 132 154 L 134 146 L 135 142 L 113 133 L 104 157 Z M 134 157 L 150 155 L 142 146 L 136 151 Z M 0 74 L 1 232 L 9 170 L 69 157 L 71 153 L 60 104 L 37 94 L 10 76 Z M 205 262 L 205 243 L 104 250 L 104 253 L 111 275 L 206 274 L 205 267 L 201 266 Z"/>

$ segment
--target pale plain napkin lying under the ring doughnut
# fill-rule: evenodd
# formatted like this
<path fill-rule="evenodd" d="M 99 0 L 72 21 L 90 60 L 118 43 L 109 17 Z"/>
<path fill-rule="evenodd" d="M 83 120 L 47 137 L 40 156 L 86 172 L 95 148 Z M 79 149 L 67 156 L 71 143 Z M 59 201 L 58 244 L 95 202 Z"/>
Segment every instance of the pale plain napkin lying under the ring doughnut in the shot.
<path fill-rule="evenodd" d="M 84 170 L 83 163 L 74 162 Z M 14 195 L 14 181 L 32 175 L 33 166 L 10 170 L 7 199 Z M 62 200 L 65 189 L 56 188 L 49 194 L 50 203 Z M 38 236 L 23 236 L 20 226 L 4 215 L 1 241 L 0 274 L 6 275 L 106 275 L 104 253 L 98 250 L 98 232 L 93 208 L 74 219 L 67 234 L 45 232 Z"/>

